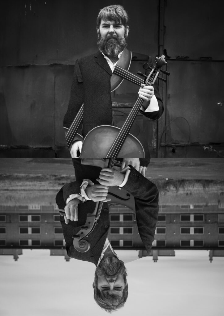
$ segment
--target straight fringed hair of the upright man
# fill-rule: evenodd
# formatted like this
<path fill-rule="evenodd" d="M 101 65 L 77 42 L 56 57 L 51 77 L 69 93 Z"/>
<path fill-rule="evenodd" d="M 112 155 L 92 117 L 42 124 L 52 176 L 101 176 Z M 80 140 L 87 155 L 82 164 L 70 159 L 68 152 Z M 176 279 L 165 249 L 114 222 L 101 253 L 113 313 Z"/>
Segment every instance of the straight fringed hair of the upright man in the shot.
<path fill-rule="evenodd" d="M 113 20 L 115 23 L 120 23 L 126 27 L 128 26 L 128 15 L 122 5 L 109 5 L 99 11 L 96 20 L 97 29 L 100 27 L 101 20 Z"/>

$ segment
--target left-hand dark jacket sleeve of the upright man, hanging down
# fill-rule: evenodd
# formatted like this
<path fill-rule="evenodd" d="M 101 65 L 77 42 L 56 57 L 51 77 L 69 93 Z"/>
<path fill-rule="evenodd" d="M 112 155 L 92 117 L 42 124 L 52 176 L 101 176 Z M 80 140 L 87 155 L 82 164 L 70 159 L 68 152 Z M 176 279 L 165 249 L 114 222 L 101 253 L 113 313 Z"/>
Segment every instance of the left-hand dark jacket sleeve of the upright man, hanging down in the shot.
<path fill-rule="evenodd" d="M 68 109 L 64 116 L 64 127 L 69 128 L 76 114 L 83 104 L 83 80 L 78 60 L 75 62 L 74 76 L 71 87 L 71 95 L 68 103 Z M 82 123 L 77 131 L 82 135 Z"/>

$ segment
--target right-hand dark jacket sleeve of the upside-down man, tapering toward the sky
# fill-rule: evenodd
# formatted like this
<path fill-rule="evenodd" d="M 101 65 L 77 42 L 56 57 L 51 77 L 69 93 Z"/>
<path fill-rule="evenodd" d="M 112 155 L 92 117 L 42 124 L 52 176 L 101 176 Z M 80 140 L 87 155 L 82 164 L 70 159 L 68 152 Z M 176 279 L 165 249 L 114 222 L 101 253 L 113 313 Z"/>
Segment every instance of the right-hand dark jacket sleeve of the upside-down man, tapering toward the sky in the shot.
<path fill-rule="evenodd" d="M 131 173 L 123 188 L 135 198 L 138 232 L 148 254 L 150 254 L 158 220 L 159 192 L 156 185 L 142 176 L 132 166 L 130 167 Z"/>

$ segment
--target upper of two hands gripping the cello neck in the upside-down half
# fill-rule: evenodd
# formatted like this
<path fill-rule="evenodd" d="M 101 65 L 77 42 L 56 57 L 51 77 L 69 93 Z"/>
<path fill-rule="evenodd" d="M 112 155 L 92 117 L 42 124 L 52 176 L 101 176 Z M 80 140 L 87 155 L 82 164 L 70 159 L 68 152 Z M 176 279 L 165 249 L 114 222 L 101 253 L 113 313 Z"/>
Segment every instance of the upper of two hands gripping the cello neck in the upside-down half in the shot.
<path fill-rule="evenodd" d="M 118 170 L 113 170 L 110 168 L 103 168 L 100 171 L 99 179 L 97 181 L 101 185 L 115 186 L 120 185 L 125 179 L 125 175 L 120 173 Z"/>

